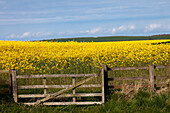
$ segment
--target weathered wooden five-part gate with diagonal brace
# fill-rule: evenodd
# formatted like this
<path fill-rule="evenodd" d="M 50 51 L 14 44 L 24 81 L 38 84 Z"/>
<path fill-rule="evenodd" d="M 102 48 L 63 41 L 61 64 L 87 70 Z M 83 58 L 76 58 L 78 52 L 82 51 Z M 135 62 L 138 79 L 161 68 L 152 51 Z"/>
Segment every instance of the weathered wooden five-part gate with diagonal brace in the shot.
<path fill-rule="evenodd" d="M 102 80 L 98 84 L 85 84 L 92 79 L 98 78 L 98 76 Z M 22 98 L 37 98 L 34 102 L 22 102 L 26 105 L 92 105 L 92 104 L 102 104 L 105 102 L 105 83 L 104 83 L 104 70 L 102 69 L 100 74 L 51 74 L 51 75 L 17 75 L 16 70 L 12 70 L 12 78 L 13 78 L 13 96 L 14 101 L 19 102 L 18 99 Z M 47 78 L 62 78 L 67 77 L 72 79 L 72 84 L 70 85 L 47 85 Z M 76 83 L 76 78 L 84 77 L 85 79 Z M 43 80 L 43 85 L 18 85 L 17 82 L 19 79 L 41 79 Z M 102 81 L 102 83 L 101 83 Z M 76 88 L 100 88 L 100 92 L 97 93 L 76 93 Z M 55 93 L 47 93 L 47 89 L 50 88 L 59 88 L 61 89 Z M 19 94 L 17 90 L 20 89 L 44 89 L 43 94 Z M 72 90 L 71 93 L 64 94 Z M 58 99 L 63 97 L 71 97 L 72 101 L 70 102 L 58 102 L 58 101 L 50 101 L 50 99 Z M 100 101 L 76 101 L 76 97 L 100 97 Z"/>

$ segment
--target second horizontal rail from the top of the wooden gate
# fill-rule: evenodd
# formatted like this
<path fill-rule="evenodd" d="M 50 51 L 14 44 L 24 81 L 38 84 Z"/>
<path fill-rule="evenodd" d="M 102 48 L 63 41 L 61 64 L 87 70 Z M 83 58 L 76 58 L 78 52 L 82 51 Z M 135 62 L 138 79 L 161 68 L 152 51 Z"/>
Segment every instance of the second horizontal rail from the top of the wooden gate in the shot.
<path fill-rule="evenodd" d="M 73 85 L 25 85 L 18 86 L 18 89 L 36 89 L 36 88 L 68 88 Z M 87 84 L 82 85 L 79 88 L 89 88 L 89 87 L 101 87 L 101 84 Z"/>

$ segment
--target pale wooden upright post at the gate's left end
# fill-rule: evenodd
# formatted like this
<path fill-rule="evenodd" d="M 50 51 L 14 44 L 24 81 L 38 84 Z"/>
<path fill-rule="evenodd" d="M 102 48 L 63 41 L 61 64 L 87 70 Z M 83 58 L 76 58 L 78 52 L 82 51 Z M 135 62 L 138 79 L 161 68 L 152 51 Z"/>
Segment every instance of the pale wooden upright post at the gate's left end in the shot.
<path fill-rule="evenodd" d="M 13 92 L 14 102 L 18 101 L 16 75 L 17 75 L 17 71 L 12 70 L 12 92 Z"/>

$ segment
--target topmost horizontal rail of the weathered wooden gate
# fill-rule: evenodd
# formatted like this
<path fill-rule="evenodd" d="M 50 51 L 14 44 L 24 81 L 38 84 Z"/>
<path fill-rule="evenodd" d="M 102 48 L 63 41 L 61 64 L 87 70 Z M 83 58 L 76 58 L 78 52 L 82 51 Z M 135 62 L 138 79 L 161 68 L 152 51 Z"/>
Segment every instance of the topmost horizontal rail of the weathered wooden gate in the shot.
<path fill-rule="evenodd" d="M 90 77 L 98 76 L 97 74 L 52 74 L 52 75 L 17 75 L 17 78 L 55 78 L 55 77 Z"/>

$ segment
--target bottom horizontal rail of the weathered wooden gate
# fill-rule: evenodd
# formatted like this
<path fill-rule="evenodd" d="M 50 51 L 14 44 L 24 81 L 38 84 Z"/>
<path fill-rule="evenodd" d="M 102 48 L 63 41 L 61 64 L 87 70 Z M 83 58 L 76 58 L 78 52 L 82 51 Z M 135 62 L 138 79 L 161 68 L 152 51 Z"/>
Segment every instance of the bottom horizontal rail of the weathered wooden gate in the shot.
<path fill-rule="evenodd" d="M 25 105 L 36 105 L 36 102 L 23 103 Z M 42 105 L 95 105 L 102 104 L 102 102 L 44 102 Z"/>

